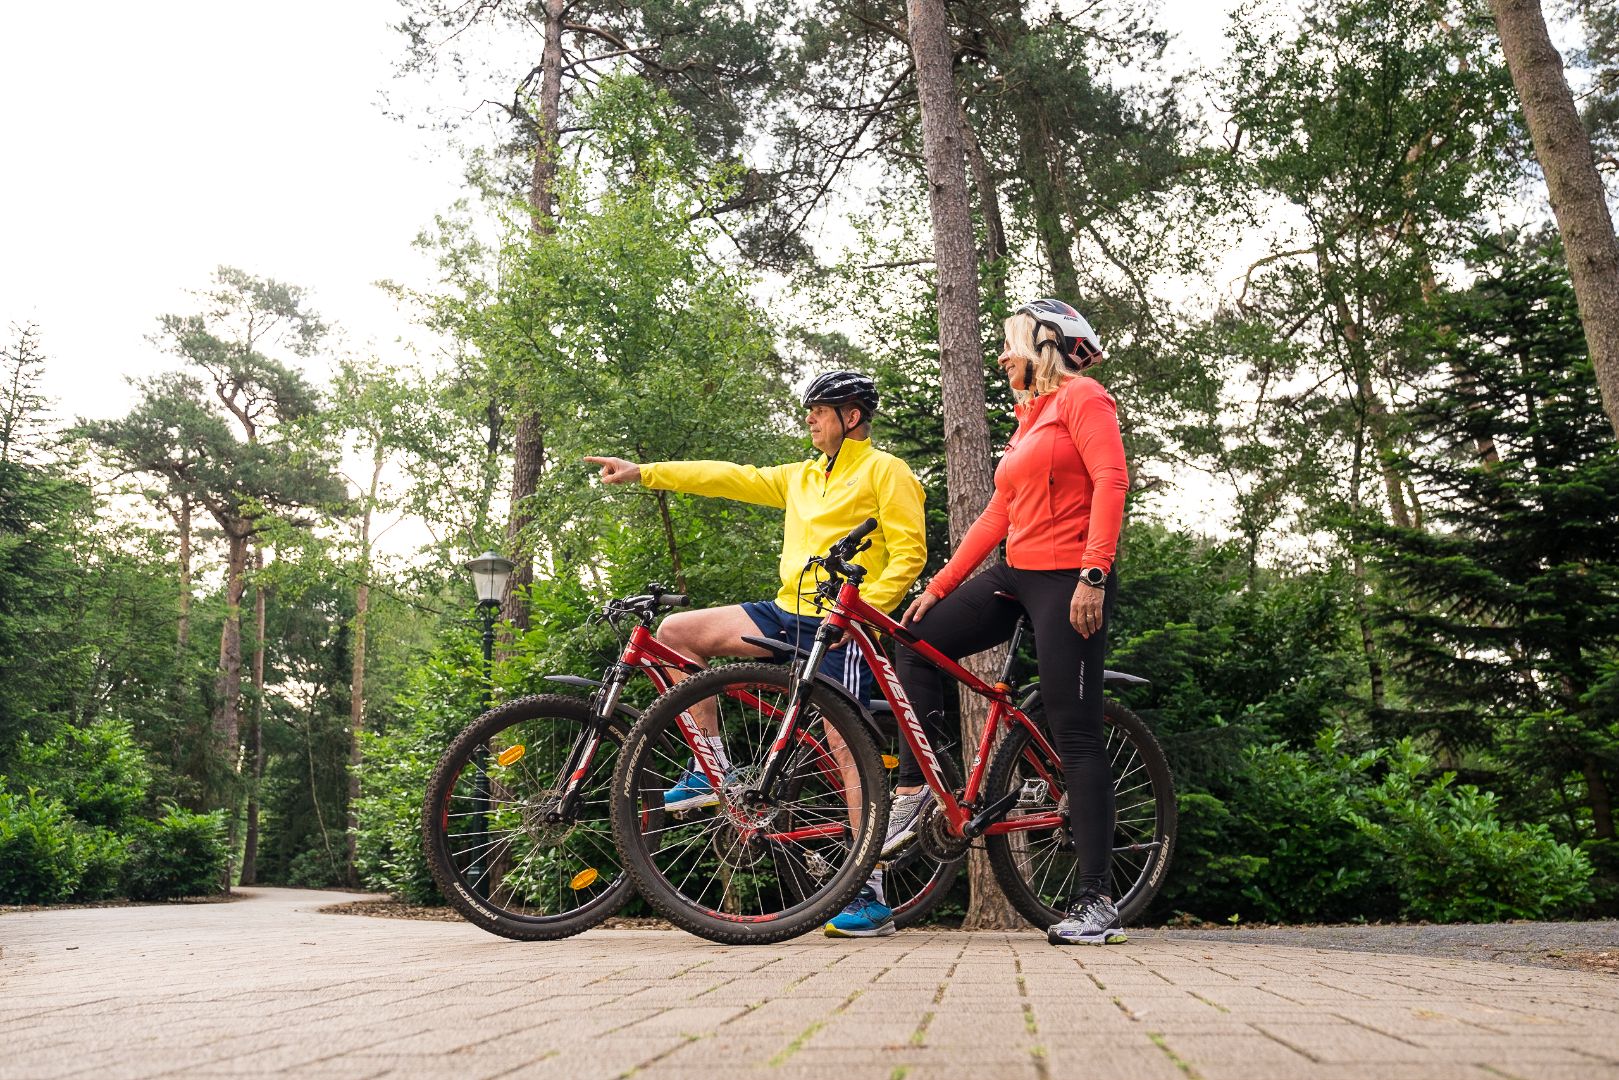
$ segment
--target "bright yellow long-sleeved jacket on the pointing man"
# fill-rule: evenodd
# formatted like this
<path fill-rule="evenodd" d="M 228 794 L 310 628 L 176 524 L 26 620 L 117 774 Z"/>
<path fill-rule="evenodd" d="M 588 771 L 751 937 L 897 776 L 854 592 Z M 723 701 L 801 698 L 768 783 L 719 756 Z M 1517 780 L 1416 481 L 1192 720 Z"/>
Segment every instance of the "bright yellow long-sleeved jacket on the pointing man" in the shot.
<path fill-rule="evenodd" d="M 877 520 L 871 547 L 855 562 L 866 567 L 860 594 L 882 610 L 899 607 L 928 562 L 921 484 L 910 466 L 866 439 L 845 439 L 827 470 L 824 453 L 790 465 L 732 465 L 730 461 L 654 461 L 641 466 L 641 483 L 662 491 L 737 499 L 787 510 L 782 533 L 782 591 L 777 606 L 816 615 L 814 575 L 798 575 L 810 555 L 826 549 L 866 518 Z"/>

